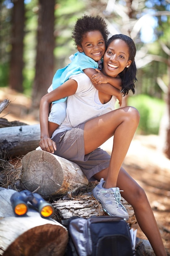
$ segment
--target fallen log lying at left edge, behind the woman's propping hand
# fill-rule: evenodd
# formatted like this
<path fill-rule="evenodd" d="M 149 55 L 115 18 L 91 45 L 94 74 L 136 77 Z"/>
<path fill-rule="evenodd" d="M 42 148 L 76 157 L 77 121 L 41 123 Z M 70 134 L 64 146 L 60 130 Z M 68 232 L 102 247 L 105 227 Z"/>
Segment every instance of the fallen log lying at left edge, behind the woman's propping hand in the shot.
<path fill-rule="evenodd" d="M 0 158 L 26 155 L 39 146 L 39 141 L 39 124 L 0 128 Z"/>

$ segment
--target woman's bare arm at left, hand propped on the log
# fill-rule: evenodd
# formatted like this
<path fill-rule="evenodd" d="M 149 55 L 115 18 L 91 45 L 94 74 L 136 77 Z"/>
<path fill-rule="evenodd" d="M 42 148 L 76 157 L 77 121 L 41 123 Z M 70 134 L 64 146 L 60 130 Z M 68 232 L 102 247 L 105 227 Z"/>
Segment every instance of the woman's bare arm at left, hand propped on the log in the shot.
<path fill-rule="evenodd" d="M 56 144 L 49 137 L 48 133 L 48 116 L 50 112 L 50 104 L 53 101 L 68 97 L 75 94 L 77 90 L 77 82 L 73 79 L 70 79 L 59 86 L 57 89 L 52 92 L 47 93 L 41 98 L 39 105 L 39 122 L 41 130 L 41 140 L 39 146 L 42 150 L 54 153 L 56 150 Z"/>

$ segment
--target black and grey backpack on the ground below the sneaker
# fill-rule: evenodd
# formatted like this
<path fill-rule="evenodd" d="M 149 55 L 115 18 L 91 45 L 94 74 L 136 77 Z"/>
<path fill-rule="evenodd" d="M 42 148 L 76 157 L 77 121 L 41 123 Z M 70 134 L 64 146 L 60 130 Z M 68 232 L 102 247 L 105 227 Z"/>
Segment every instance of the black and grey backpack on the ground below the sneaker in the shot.
<path fill-rule="evenodd" d="M 66 256 L 134 256 L 129 224 L 122 218 L 72 217 Z"/>

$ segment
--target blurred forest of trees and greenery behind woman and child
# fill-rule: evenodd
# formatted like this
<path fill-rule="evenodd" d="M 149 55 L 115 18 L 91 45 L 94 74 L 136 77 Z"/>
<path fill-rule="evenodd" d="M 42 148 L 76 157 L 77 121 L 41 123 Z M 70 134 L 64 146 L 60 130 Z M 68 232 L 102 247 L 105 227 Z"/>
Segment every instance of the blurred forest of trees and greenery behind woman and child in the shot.
<path fill-rule="evenodd" d="M 30 98 L 38 120 L 54 73 L 76 52 L 72 29 L 84 14 L 105 18 L 110 36 L 134 40 L 138 81 L 124 105 L 139 110 L 139 134 L 161 131 L 170 159 L 170 0 L 0 1 L 0 87 Z"/>

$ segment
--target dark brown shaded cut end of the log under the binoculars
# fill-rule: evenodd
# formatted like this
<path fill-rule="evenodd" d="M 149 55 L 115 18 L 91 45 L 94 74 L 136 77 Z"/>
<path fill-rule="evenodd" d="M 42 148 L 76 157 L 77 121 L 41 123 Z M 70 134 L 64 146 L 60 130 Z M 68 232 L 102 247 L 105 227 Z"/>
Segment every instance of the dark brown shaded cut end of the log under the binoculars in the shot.
<path fill-rule="evenodd" d="M 29 229 L 19 236 L 4 252 L 3 256 L 62 256 L 68 243 L 67 230 L 46 224 Z"/>

